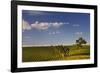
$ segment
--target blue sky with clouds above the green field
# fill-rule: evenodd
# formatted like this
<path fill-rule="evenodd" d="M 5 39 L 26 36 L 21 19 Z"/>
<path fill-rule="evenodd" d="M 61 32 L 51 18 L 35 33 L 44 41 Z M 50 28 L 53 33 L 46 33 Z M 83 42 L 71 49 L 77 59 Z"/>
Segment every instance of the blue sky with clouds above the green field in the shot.
<path fill-rule="evenodd" d="M 23 45 L 69 45 L 83 37 L 90 43 L 90 14 L 22 10 Z"/>

